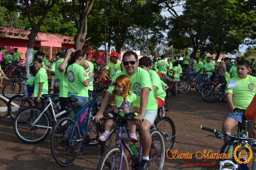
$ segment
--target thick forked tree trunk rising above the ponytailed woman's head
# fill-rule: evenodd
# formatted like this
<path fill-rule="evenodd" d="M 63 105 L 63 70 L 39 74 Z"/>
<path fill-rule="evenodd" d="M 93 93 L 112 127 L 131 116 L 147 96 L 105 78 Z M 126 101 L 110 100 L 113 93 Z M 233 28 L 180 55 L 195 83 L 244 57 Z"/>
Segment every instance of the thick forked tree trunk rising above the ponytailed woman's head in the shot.
<path fill-rule="evenodd" d="M 87 36 L 87 17 L 93 7 L 94 0 L 72 0 L 72 9 L 75 19 L 77 34 L 75 35 L 75 47 L 81 50 Z"/>

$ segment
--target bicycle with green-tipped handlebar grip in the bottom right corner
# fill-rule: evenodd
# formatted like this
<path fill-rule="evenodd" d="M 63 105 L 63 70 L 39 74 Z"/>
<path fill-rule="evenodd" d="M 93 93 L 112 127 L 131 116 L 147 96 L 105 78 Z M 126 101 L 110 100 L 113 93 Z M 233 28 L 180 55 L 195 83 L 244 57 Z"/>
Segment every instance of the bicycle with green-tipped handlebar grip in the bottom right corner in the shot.
<path fill-rule="evenodd" d="M 247 147 L 245 147 L 246 145 L 248 145 L 251 149 L 252 149 L 252 153 L 253 153 L 253 159 L 252 159 L 252 164 L 251 164 L 251 169 L 254 170 L 256 169 L 256 139 L 253 139 L 253 138 L 245 138 L 245 137 L 240 137 L 240 136 L 237 136 L 237 135 L 231 135 L 229 133 L 226 133 L 226 132 L 221 132 L 221 131 L 218 131 L 216 129 L 211 129 L 211 128 L 208 128 L 208 127 L 203 127 L 202 125 L 200 126 L 200 129 L 201 130 L 205 130 L 205 131 L 209 131 L 209 132 L 212 132 L 215 134 L 215 137 L 216 138 L 219 138 L 219 139 L 222 139 L 223 137 L 228 137 L 230 138 L 230 141 L 232 142 L 235 142 L 235 143 L 239 143 L 239 144 L 243 144 L 243 146 L 241 146 L 241 149 L 240 150 L 237 150 L 237 159 L 239 158 L 240 154 L 241 154 L 241 151 L 242 150 L 245 150 Z M 246 164 L 238 164 L 238 162 L 236 162 L 233 157 L 233 150 L 234 148 L 230 148 L 229 150 L 229 154 L 230 154 L 230 157 L 229 159 L 227 160 L 224 160 L 224 161 L 220 161 L 220 170 L 236 170 L 238 168 L 242 168 L 242 169 L 248 169 L 248 166 Z M 238 159 L 239 160 L 239 159 Z M 240 160 L 241 161 L 241 160 Z M 228 167 L 226 167 L 225 165 L 227 165 Z M 250 166 L 250 165 L 249 165 Z"/>

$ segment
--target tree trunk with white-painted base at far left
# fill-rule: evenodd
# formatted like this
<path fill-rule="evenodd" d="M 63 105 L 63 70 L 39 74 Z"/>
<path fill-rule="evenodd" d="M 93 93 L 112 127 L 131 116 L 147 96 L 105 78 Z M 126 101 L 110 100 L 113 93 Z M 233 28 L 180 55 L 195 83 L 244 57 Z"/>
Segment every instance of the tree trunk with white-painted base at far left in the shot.
<path fill-rule="evenodd" d="M 28 46 L 27 46 L 27 52 L 26 52 L 26 78 L 30 77 L 30 72 L 29 72 L 29 66 L 33 65 L 33 47 L 35 44 L 35 38 L 37 36 L 37 33 L 39 32 L 38 27 L 33 28 L 29 34 L 29 41 L 28 41 Z M 32 64 L 31 64 L 32 63 Z"/>

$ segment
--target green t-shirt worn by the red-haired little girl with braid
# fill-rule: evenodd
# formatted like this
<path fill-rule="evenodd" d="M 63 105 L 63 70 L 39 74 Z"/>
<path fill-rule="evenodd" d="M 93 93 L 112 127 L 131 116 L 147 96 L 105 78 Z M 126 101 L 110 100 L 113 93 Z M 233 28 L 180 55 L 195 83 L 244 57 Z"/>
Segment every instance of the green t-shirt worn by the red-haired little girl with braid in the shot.
<path fill-rule="evenodd" d="M 115 107 L 121 107 L 122 103 L 123 103 L 123 96 L 121 96 L 120 94 L 116 94 L 115 95 L 115 100 L 116 100 L 116 105 L 114 104 L 113 101 L 111 101 L 111 106 L 115 106 Z M 135 107 L 140 107 L 140 98 L 134 94 L 132 91 L 129 91 L 129 94 L 126 96 L 125 99 L 125 104 L 123 106 L 124 109 L 133 109 Z M 121 117 L 124 117 L 124 112 L 123 109 L 120 109 L 118 114 Z M 137 112 L 134 113 L 135 115 L 138 115 Z"/>

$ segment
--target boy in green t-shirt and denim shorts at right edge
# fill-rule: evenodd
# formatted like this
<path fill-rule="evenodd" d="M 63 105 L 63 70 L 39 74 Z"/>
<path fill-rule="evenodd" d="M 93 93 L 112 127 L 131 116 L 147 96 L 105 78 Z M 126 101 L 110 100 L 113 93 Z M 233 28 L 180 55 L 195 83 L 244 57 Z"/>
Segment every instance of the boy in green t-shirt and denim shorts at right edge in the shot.
<path fill-rule="evenodd" d="M 238 76 L 233 77 L 227 84 L 226 87 L 226 99 L 229 106 L 229 111 L 222 124 L 222 131 L 229 132 L 238 124 L 243 122 L 244 110 L 251 103 L 254 95 L 256 94 L 256 78 L 247 75 L 250 71 L 249 61 L 240 60 L 237 63 L 237 74 Z M 243 111 L 235 111 L 238 108 Z M 252 129 L 251 123 L 248 124 L 249 136 L 255 138 L 255 130 Z M 224 142 L 228 139 L 224 138 Z"/>

